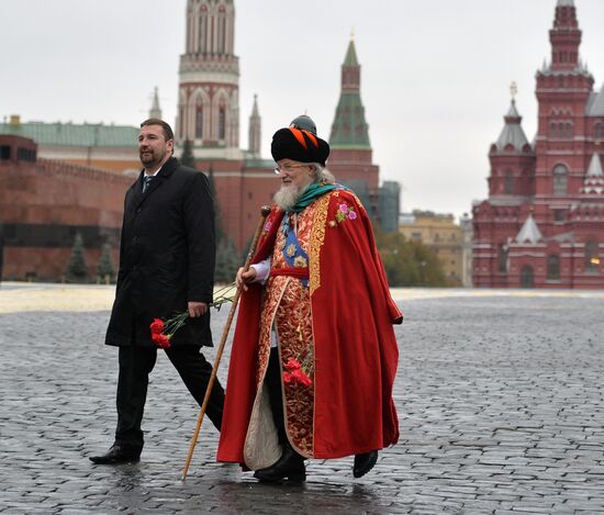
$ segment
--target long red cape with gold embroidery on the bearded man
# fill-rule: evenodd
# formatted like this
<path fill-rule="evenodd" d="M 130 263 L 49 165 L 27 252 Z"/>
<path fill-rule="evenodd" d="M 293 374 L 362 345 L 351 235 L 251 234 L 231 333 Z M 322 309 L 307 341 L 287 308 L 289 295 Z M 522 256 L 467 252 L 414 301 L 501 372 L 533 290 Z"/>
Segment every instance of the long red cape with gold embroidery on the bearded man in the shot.
<path fill-rule="evenodd" d="M 309 253 L 315 345 L 314 457 L 320 459 L 368 452 L 398 441 L 392 387 L 399 349 L 392 324 L 403 320 L 390 296 L 365 209 L 349 191 L 326 194 L 325 209 L 317 211 L 318 225 L 313 228 L 316 245 Z M 337 214 L 342 204 L 354 208 L 354 220 Z M 272 210 L 251 262 L 272 254 L 282 217 L 282 211 Z M 261 293 L 261 286 L 250 284 L 241 298 L 219 461 L 244 463 L 256 395 Z"/>

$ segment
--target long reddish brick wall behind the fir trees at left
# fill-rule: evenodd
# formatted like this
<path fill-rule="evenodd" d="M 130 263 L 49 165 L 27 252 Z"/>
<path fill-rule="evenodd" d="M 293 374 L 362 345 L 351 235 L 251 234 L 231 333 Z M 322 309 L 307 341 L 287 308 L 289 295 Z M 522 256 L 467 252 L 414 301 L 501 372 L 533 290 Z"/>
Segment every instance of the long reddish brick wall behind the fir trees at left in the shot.
<path fill-rule="evenodd" d="M 115 233 L 122 224 L 124 193 L 132 178 L 58 161 L 0 161 L 0 223 L 93 226 Z M 115 238 L 113 238 L 115 239 Z M 113 262 L 118 267 L 118 244 Z M 68 264 L 70 247 L 4 245 L 4 279 L 58 279 Z M 86 248 L 90 275 L 96 273 L 100 248 Z"/>

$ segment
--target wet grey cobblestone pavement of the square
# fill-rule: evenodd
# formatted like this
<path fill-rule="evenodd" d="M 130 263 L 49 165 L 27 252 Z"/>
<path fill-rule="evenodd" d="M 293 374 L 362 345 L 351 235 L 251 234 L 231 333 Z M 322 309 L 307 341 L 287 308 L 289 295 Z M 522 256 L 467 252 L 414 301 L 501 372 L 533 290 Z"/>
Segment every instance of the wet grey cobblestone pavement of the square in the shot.
<path fill-rule="evenodd" d="M 24 291 L 30 309 L 11 310 Z M 112 441 L 116 350 L 102 345 L 107 309 L 86 311 L 79 290 L 66 311 L 63 291 L 0 290 L 1 513 L 604 513 L 602 292 L 411 295 L 396 328 L 400 443 L 360 480 L 351 458 L 315 460 L 291 486 L 216 463 L 209 423 L 180 481 L 198 407 L 165 357 L 142 461 L 89 462 Z M 225 318 L 214 316 L 216 339 Z"/>

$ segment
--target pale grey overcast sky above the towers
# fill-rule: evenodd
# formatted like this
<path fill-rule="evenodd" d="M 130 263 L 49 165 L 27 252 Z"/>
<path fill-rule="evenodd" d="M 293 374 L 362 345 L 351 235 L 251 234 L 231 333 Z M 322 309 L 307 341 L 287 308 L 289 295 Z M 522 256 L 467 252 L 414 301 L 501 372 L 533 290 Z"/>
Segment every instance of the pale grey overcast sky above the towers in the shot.
<path fill-rule="evenodd" d="M 575 0 L 582 58 L 604 82 L 604 1 Z M 403 183 L 403 210 L 460 215 L 486 197 L 488 152 L 508 87 L 529 139 L 535 72 L 556 0 L 235 0 L 241 143 L 254 93 L 262 154 L 307 111 L 328 138 L 354 30 L 373 161 Z M 0 116 L 136 125 L 159 87 L 174 123 L 186 0 L 3 0 Z"/>

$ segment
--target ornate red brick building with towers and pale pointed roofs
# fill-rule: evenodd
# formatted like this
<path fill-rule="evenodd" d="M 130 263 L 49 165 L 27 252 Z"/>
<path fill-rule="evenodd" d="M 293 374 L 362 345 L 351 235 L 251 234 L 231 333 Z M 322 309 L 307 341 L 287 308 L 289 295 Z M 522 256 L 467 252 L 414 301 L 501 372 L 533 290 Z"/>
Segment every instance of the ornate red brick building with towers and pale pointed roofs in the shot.
<path fill-rule="evenodd" d="M 489 199 L 472 210 L 477 287 L 604 288 L 604 88 L 579 57 L 573 0 L 558 0 L 549 40 L 535 139 L 513 99 L 489 153 Z"/>

